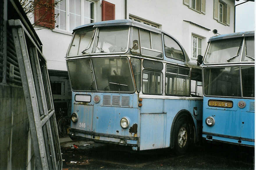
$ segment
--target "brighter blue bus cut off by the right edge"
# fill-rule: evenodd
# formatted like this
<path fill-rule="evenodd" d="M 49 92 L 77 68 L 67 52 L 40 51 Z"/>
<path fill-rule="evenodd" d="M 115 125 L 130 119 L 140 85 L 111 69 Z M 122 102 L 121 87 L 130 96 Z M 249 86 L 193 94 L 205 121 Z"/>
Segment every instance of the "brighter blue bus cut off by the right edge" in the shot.
<path fill-rule="evenodd" d="M 254 31 L 209 39 L 202 63 L 203 138 L 254 147 L 254 65 Z"/>

